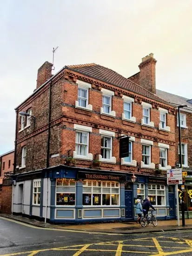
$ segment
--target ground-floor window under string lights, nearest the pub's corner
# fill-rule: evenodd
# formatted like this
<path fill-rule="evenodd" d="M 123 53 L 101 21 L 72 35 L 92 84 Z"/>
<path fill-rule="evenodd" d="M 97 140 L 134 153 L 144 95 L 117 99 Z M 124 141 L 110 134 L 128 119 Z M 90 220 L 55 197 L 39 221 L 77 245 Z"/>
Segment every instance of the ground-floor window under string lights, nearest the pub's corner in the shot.
<path fill-rule="evenodd" d="M 56 205 L 75 205 L 75 180 L 56 179 Z"/>

